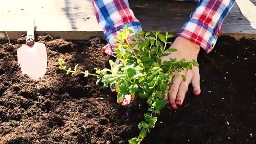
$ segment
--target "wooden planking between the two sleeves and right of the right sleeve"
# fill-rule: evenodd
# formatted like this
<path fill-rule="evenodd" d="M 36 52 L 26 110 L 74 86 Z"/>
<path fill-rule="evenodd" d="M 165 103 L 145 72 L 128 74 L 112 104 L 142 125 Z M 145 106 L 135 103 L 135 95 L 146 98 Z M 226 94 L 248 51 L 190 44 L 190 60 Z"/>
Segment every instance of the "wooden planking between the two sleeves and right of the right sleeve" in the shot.
<path fill-rule="evenodd" d="M 144 30 L 161 30 L 173 33 L 180 30 L 191 12 L 196 10 L 197 4 L 197 2 L 130 1 L 130 7 L 140 20 Z M 255 0 L 253 3 L 250 0 L 236 0 L 232 10 L 224 20 L 220 35 L 230 35 L 236 39 L 244 36 L 256 37 L 255 5 Z"/>

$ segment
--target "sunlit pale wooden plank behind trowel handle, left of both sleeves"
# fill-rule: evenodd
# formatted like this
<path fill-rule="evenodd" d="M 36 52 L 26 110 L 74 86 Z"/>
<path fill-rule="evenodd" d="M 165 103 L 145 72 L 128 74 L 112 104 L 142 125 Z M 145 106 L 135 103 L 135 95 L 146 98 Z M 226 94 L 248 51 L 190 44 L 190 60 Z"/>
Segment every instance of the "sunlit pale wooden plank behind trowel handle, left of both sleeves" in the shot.
<path fill-rule="evenodd" d="M 36 32 L 65 39 L 104 37 L 91 0 L 4 0 L 0 5 L 0 33 L 17 39 L 35 17 Z M 5 28 L 4 28 L 5 26 Z M 2 36 L 3 37 L 3 36 Z"/>

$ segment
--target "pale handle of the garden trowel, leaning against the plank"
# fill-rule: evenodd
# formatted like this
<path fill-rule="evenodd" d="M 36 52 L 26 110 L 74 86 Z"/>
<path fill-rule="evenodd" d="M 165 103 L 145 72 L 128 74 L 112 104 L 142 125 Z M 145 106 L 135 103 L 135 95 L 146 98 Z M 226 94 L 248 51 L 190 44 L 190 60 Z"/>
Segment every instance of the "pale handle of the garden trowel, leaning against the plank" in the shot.
<path fill-rule="evenodd" d="M 34 31 L 35 31 L 35 18 L 32 18 L 28 23 L 27 37 L 26 37 L 26 42 L 29 46 L 32 46 L 34 44 L 34 41 L 35 41 Z"/>

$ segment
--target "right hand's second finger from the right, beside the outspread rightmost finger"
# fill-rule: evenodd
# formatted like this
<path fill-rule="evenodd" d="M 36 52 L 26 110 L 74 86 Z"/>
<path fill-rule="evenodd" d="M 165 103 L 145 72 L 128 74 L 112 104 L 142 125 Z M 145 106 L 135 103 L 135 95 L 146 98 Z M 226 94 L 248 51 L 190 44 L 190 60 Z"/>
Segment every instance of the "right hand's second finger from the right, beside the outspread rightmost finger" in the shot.
<path fill-rule="evenodd" d="M 186 77 L 186 81 L 184 82 L 182 80 L 182 82 L 181 82 L 181 84 L 179 86 L 178 93 L 177 93 L 176 104 L 178 106 L 181 106 L 183 101 L 184 101 L 184 98 L 186 96 L 186 92 L 188 91 L 188 85 L 190 84 L 191 79 L 192 79 L 192 73 L 191 72 L 187 72 L 185 77 Z"/>

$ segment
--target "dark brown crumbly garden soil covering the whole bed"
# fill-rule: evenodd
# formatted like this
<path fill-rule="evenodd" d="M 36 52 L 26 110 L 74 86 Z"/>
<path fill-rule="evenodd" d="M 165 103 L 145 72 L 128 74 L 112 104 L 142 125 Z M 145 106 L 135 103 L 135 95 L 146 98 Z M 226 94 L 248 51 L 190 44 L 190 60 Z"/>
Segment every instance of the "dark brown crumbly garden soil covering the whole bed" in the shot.
<path fill-rule="evenodd" d="M 94 73 L 111 58 L 99 38 L 67 42 L 39 36 L 46 44 L 48 67 L 44 78 L 21 74 L 14 44 L 0 45 L 0 144 L 126 144 L 138 136 L 146 106 L 123 107 L 96 78 L 74 77 L 68 67 Z M 162 110 L 157 126 L 143 144 L 255 144 L 256 41 L 221 36 L 210 54 L 200 51 L 200 96 L 190 87 L 184 106 Z M 227 124 L 228 122 L 228 124 Z M 252 135 L 252 136 L 251 136 Z"/>

